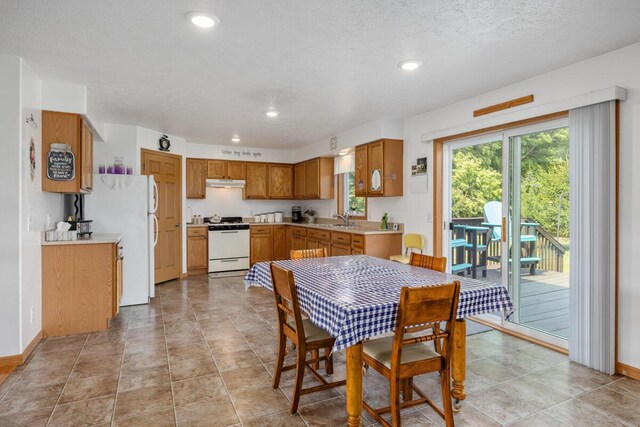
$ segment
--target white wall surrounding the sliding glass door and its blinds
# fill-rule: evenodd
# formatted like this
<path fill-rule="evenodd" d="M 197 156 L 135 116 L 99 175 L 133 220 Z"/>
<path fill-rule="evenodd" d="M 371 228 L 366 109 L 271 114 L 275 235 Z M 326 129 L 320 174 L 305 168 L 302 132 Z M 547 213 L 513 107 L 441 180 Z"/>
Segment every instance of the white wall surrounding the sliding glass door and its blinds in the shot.
<path fill-rule="evenodd" d="M 446 135 L 464 130 L 479 129 L 491 124 L 505 123 L 550 112 L 554 105 L 591 91 L 621 86 L 627 89 L 628 99 L 621 103 L 620 118 L 620 236 L 618 360 L 640 367 L 640 273 L 635 268 L 640 259 L 640 44 L 609 52 L 605 55 L 570 65 L 520 83 L 504 87 L 460 103 L 450 105 L 405 121 L 405 166 L 428 153 L 429 191 L 408 194 L 400 202 L 384 201 L 390 209 L 404 212 L 407 230 L 428 237 L 432 251 L 432 224 L 428 218 L 432 206 L 432 147 L 422 140 L 426 135 Z M 534 94 L 535 103 L 512 111 L 496 113 L 484 119 L 473 119 L 472 111 L 519 96 Z M 405 182 L 410 179 L 405 167 Z M 376 209 L 379 206 L 376 206 Z"/>

